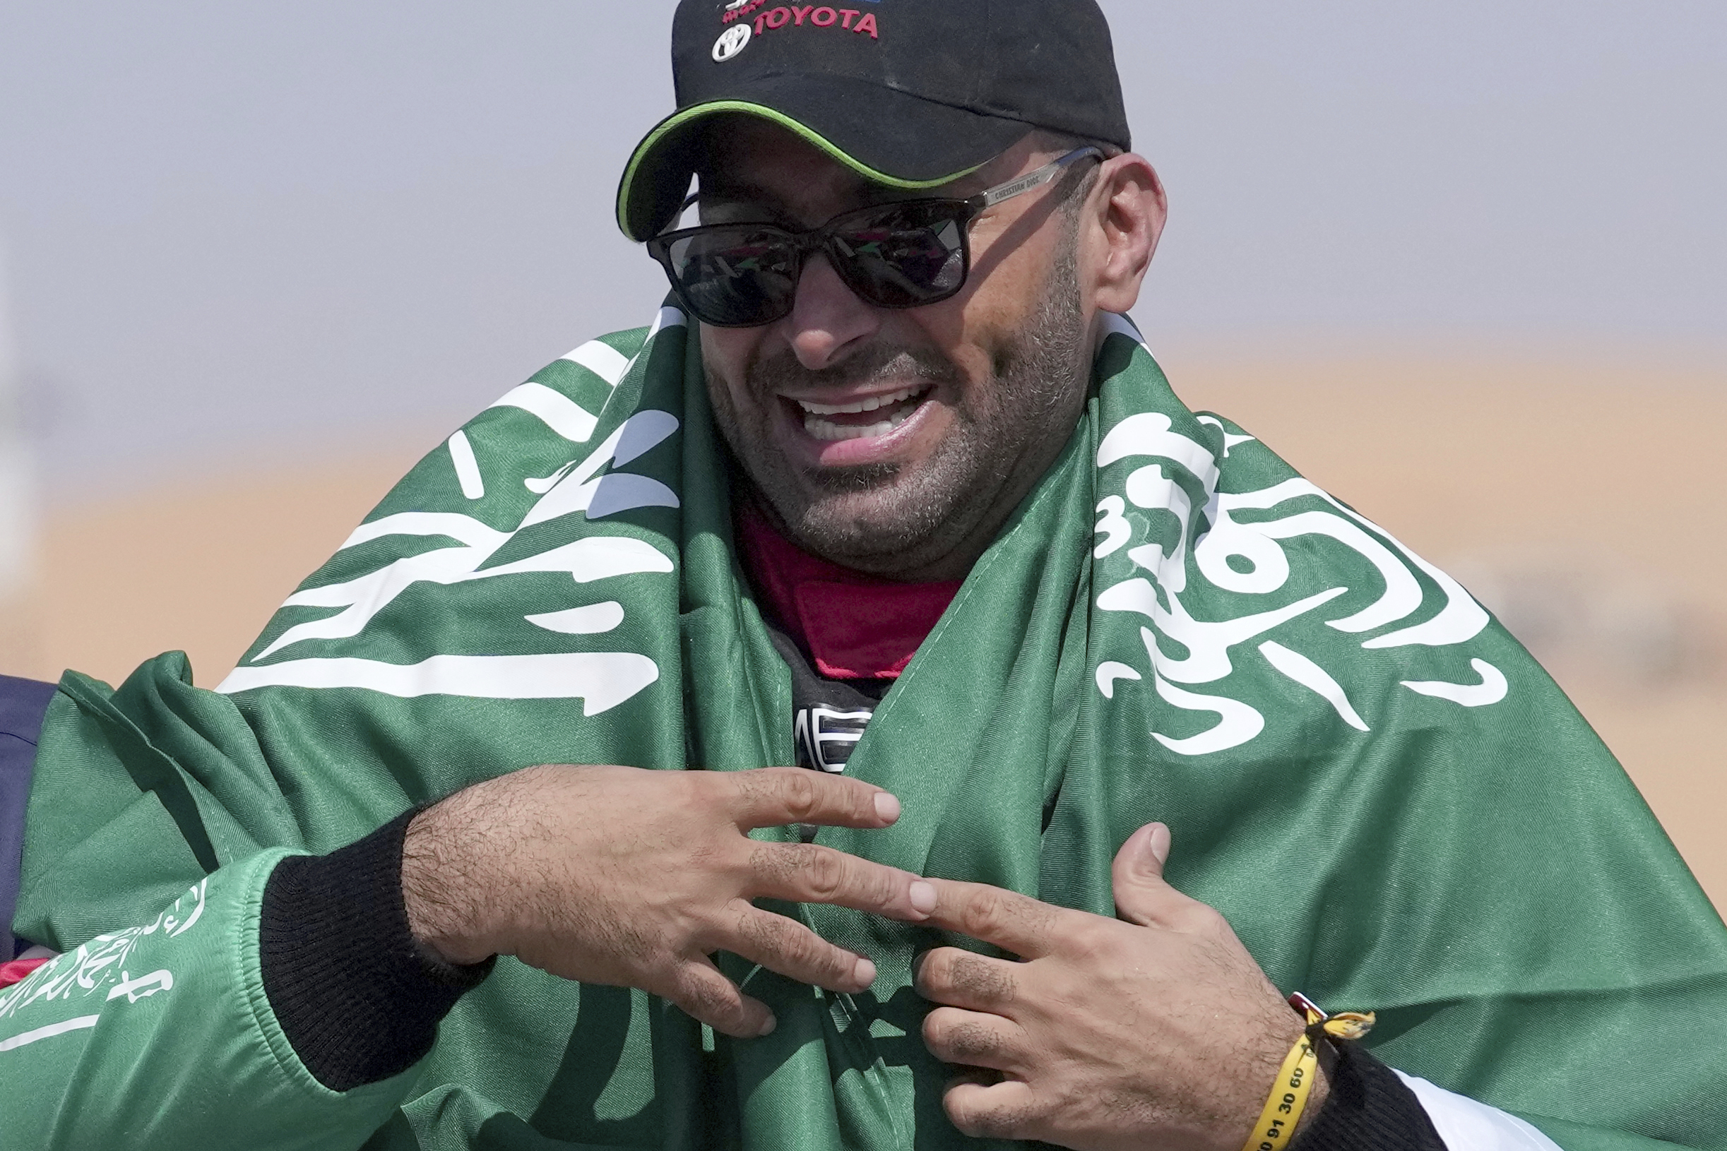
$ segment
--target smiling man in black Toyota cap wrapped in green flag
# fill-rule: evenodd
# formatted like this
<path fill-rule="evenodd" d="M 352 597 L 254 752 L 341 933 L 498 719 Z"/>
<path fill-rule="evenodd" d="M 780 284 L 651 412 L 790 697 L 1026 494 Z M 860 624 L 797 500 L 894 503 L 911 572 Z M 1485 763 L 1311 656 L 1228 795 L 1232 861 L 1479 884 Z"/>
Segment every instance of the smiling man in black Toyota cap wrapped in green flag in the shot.
<path fill-rule="evenodd" d="M 677 305 L 218 692 L 62 682 L 3 1146 L 1727 1146 L 1727 932 L 1623 773 L 1123 319 L 1095 5 L 698 0 L 674 64 L 618 202 Z"/>

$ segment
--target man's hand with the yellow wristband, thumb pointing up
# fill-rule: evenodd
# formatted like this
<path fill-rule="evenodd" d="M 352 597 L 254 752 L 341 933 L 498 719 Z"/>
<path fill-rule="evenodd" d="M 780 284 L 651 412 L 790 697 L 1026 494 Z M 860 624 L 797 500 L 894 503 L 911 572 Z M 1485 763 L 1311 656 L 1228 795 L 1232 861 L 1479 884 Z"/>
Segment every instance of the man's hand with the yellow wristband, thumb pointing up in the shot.
<path fill-rule="evenodd" d="M 1024 963 L 941 947 L 917 991 L 929 1051 L 967 1070 L 946 1092 L 967 1135 L 1041 1139 L 1078 1151 L 1240 1151 L 1302 1022 L 1221 915 L 1162 878 L 1169 828 L 1135 832 L 1116 856 L 1107 920 L 1026 896 L 929 880 L 927 923 Z M 1325 1101 L 1314 1082 L 1306 1115 Z"/>

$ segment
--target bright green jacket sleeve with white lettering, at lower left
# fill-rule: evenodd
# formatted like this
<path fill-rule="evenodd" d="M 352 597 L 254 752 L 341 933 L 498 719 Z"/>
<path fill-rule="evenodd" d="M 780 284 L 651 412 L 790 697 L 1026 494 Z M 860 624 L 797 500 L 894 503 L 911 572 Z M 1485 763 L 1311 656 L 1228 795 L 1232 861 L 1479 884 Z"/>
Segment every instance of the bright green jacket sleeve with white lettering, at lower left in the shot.
<path fill-rule="evenodd" d="M 328 1091 L 269 1013 L 257 904 L 285 854 L 221 868 L 0 992 L 0 1148 L 245 1148 L 268 1130 L 259 1146 L 325 1151 L 390 1118 L 413 1073 Z"/>

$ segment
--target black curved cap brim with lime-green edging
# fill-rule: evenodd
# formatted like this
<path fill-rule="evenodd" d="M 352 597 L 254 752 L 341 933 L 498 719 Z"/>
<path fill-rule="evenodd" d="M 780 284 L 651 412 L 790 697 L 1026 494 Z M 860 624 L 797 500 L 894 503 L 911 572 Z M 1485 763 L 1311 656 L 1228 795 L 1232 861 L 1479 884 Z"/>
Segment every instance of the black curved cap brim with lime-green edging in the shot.
<path fill-rule="evenodd" d="M 636 145 L 618 181 L 618 228 L 625 236 L 648 240 L 672 223 L 701 159 L 699 129 L 727 112 L 779 124 L 865 179 L 907 190 L 969 176 L 1033 131 L 1021 121 L 841 76 L 756 81 L 750 98 L 679 109 Z"/>

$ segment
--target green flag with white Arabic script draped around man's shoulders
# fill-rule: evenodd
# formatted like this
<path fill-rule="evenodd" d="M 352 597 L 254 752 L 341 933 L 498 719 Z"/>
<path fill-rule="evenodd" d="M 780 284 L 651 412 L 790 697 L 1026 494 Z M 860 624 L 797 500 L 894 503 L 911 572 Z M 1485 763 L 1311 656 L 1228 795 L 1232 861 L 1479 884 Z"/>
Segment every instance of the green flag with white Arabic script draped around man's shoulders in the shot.
<path fill-rule="evenodd" d="M 789 763 L 789 673 L 741 582 L 729 499 L 679 312 L 577 349 L 421 461 L 218 692 L 178 656 L 119 690 L 66 678 L 19 934 L 69 947 L 145 923 L 206 871 L 238 889 L 259 852 L 323 852 L 535 763 Z M 1171 882 L 1281 989 L 1376 1009 L 1394 1066 L 1570 1151 L 1727 1148 L 1727 932 L 1610 752 L 1461 587 L 1190 412 L 1124 321 L 1062 457 L 846 770 L 905 815 L 822 842 L 1100 915 L 1116 847 L 1162 820 Z M 418 1073 L 368 1089 L 401 1101 L 382 1127 L 371 1103 L 295 1106 L 307 1129 L 351 1123 L 321 1146 L 977 1146 L 941 1115 L 946 1070 L 908 989 L 915 953 L 965 940 L 786 911 L 874 956 L 874 992 L 732 961 L 781 1020 L 734 1042 L 506 959 Z M 223 930 L 244 937 L 249 913 Z M 197 1108 L 169 1073 L 206 1058 L 207 1028 L 176 1030 L 183 1001 L 109 1004 L 28 1060 L 0 1054 L 0 1082 L 50 1106 L 142 1053 L 124 1082 L 164 1113 Z M 36 1006 L 0 1015 L 0 1041 L 40 1025 Z M 245 1042 L 204 1091 L 304 1075 Z M 79 1122 L 121 1130 L 104 1127 L 119 1108 Z M 228 1113 L 178 1146 L 299 1146 L 266 1118 Z"/>

